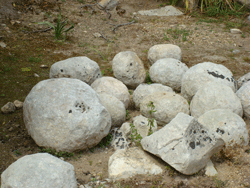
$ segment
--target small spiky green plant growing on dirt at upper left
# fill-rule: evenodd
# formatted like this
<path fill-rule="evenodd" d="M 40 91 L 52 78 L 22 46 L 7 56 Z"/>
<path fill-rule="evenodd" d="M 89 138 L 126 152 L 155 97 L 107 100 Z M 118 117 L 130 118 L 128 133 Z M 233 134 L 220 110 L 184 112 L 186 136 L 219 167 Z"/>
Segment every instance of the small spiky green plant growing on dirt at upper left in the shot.
<path fill-rule="evenodd" d="M 59 40 L 59 39 L 63 39 L 63 33 L 65 33 L 65 37 L 64 40 L 67 37 L 67 33 L 74 28 L 74 25 L 71 25 L 71 27 L 69 27 L 68 29 L 65 29 L 65 26 L 68 24 L 68 20 L 64 20 L 62 21 L 62 15 L 61 15 L 61 9 L 59 9 L 59 15 L 57 18 L 57 24 L 53 25 L 52 23 L 45 21 L 45 22 L 39 22 L 38 24 L 45 24 L 48 25 L 50 27 L 52 27 L 52 29 L 54 29 L 55 32 L 55 39 Z"/>

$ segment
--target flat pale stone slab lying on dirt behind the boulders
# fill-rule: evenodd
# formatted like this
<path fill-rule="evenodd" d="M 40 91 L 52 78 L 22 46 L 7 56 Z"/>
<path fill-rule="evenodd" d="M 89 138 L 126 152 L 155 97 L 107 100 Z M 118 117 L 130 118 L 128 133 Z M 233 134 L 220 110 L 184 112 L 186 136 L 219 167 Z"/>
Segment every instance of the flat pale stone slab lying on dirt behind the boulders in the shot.
<path fill-rule="evenodd" d="M 140 15 L 144 16 L 179 16 L 183 15 L 183 13 L 176 9 L 173 6 L 165 6 L 159 9 L 151 9 L 151 10 L 141 10 L 138 12 Z"/>

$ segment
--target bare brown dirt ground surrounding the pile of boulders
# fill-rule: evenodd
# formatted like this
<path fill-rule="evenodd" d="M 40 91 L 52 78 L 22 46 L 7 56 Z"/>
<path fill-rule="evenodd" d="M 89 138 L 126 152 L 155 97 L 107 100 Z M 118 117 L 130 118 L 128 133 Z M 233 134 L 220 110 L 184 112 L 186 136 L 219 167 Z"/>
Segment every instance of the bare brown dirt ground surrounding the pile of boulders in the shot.
<path fill-rule="evenodd" d="M 167 1 L 156 0 L 120 0 L 118 8 L 109 13 L 96 6 L 81 8 L 94 3 L 90 0 L 0 0 L 0 42 L 6 44 L 6 48 L 0 47 L 0 107 L 9 101 L 24 101 L 35 84 L 49 78 L 49 67 L 59 60 L 87 56 L 99 64 L 104 76 L 112 76 L 111 61 L 115 54 L 134 51 L 148 69 L 148 49 L 163 43 L 180 46 L 182 62 L 188 67 L 204 61 L 220 63 L 229 68 L 236 79 L 250 72 L 247 14 L 241 18 L 215 19 L 199 13 L 177 17 L 136 13 L 167 4 Z M 75 26 L 65 41 L 56 41 L 52 30 L 42 32 L 48 26 L 37 24 L 56 23 L 59 7 L 63 17 L 69 20 L 67 27 L 71 23 Z M 178 9 L 184 12 L 184 8 Z M 134 23 L 113 31 L 117 25 L 130 22 Z M 239 28 L 242 33 L 232 34 L 230 28 Z M 39 77 L 35 77 L 35 73 Z M 128 121 L 138 113 L 131 104 Z M 249 120 L 245 121 L 250 130 Z M 0 174 L 18 158 L 44 150 L 28 135 L 22 109 L 0 114 Z M 62 157 L 74 165 L 79 184 L 92 182 L 94 187 L 101 187 L 100 182 L 108 178 L 108 159 L 113 152 L 111 147 L 97 146 Z M 106 187 L 250 187 L 249 153 L 250 145 L 214 155 L 216 177 L 205 176 L 204 170 L 192 176 L 182 175 L 149 154 L 164 169 L 162 175 L 136 176 L 108 182 Z"/>

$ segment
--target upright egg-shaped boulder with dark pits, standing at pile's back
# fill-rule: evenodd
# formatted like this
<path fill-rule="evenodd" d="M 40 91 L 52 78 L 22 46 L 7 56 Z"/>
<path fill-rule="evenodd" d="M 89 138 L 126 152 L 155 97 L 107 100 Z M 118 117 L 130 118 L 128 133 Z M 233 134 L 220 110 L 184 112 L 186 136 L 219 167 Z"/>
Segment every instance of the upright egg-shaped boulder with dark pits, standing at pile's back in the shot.
<path fill-rule="evenodd" d="M 114 76 L 129 88 L 136 88 L 146 79 L 146 71 L 140 58 L 135 52 L 118 53 L 112 64 Z"/>

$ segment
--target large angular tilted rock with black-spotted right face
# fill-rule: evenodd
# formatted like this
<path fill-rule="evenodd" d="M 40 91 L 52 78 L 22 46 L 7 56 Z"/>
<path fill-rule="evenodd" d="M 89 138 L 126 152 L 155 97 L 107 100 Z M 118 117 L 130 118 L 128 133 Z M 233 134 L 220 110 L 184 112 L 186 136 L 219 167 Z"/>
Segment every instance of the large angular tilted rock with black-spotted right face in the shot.
<path fill-rule="evenodd" d="M 179 172 L 191 175 L 204 168 L 224 142 L 193 117 L 179 113 L 162 129 L 143 138 L 141 145 Z"/>

